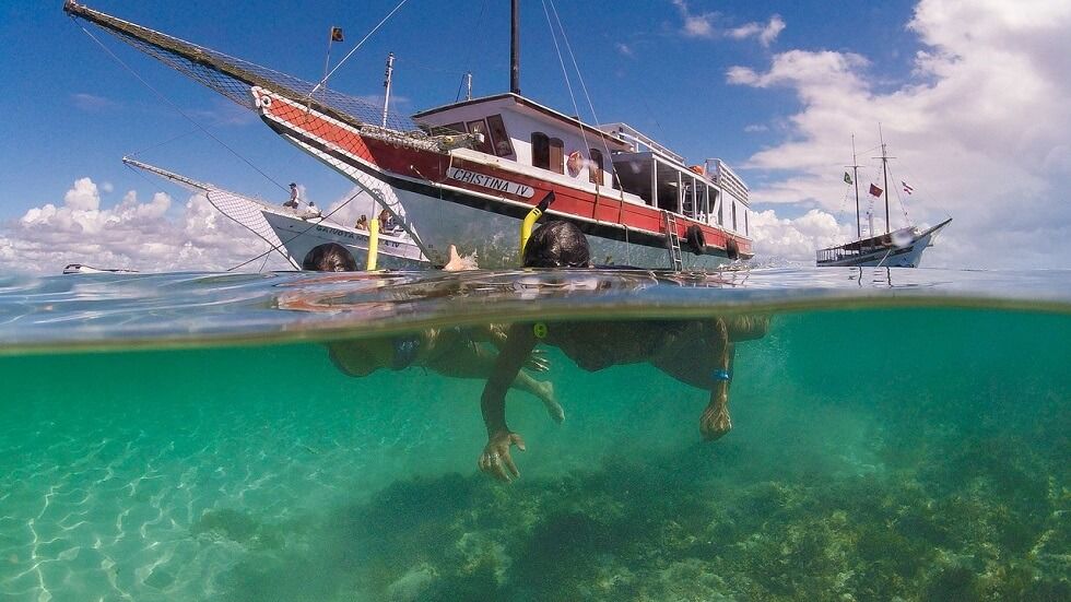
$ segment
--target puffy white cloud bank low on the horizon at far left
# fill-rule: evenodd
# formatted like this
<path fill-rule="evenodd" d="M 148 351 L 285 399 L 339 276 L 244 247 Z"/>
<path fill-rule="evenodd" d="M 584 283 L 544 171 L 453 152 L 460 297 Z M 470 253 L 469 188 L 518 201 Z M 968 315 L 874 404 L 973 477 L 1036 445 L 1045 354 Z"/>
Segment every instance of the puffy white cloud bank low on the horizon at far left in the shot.
<path fill-rule="evenodd" d="M 68 263 L 140 271 L 225 270 L 264 251 L 266 243 L 221 215 L 204 197 L 173 208 L 156 192 L 129 191 L 102 209 L 91 178 L 74 182 L 62 205 L 33 208 L 0 226 L 0 270 L 58 274 Z M 280 259 L 269 269 L 287 269 Z M 256 270 L 260 262 L 250 265 Z"/>

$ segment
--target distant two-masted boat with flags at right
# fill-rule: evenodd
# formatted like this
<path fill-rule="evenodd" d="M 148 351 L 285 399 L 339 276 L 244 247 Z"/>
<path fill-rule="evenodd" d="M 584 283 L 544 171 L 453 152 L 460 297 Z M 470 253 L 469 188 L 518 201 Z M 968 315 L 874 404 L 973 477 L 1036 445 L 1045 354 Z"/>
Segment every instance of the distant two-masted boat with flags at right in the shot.
<path fill-rule="evenodd" d="M 875 198 L 885 197 L 885 234 L 874 235 L 874 216 L 871 211 L 868 212 L 870 237 L 862 237 L 862 225 L 859 216 L 859 162 L 856 160 L 856 140 L 852 137 L 851 165 L 849 165 L 852 169 L 852 177 L 849 177 L 846 172 L 844 179 L 846 184 L 854 184 L 856 188 L 857 238 L 844 245 L 819 249 L 815 259 L 820 268 L 831 265 L 918 268 L 919 261 L 922 259 L 922 251 L 933 244 L 933 237 L 937 233 L 952 222 L 950 217 L 926 231 L 920 231 L 910 224 L 899 229 L 891 231 L 888 221 L 888 160 L 891 157 L 886 152 L 884 139 L 881 141 L 881 156 L 875 158 L 881 158 L 881 170 L 885 188 L 881 189 L 871 184 L 870 194 Z M 904 182 L 904 190 L 910 193 L 913 189 Z"/>

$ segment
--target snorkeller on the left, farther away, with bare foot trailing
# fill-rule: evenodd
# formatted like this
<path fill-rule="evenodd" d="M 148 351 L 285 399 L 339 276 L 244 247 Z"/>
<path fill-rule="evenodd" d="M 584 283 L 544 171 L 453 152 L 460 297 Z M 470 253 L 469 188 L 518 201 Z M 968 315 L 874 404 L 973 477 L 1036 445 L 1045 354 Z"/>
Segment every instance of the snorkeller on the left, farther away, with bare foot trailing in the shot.
<path fill-rule="evenodd" d="M 457 249 L 450 245 L 451 257 L 458 258 Z M 345 247 L 338 243 L 326 243 L 314 247 L 302 261 L 302 269 L 318 272 L 356 271 L 357 262 Z M 481 378 L 491 376 L 495 365 L 495 354 L 485 343 L 501 347 L 505 344 L 504 329 L 496 324 L 479 328 L 427 329 L 422 332 L 390 339 L 361 339 L 328 344 L 331 363 L 348 376 L 363 377 L 389 368 L 403 370 L 422 367 L 443 376 L 456 378 Z M 536 371 L 545 371 L 546 361 L 540 354 L 529 354 L 521 363 Z M 554 394 L 554 385 L 536 380 L 518 370 L 507 388 L 525 391 L 543 402 L 546 413 L 555 422 L 565 420 L 565 411 Z"/>

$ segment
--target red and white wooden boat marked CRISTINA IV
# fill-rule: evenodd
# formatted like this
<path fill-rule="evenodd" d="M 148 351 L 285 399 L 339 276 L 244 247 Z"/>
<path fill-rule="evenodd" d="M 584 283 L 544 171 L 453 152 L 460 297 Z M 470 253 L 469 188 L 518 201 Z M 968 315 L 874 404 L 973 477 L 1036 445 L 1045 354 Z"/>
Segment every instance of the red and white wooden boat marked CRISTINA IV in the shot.
<path fill-rule="evenodd" d="M 400 118 L 70 0 L 64 11 L 256 110 L 382 204 L 400 202 L 434 263 L 457 244 L 481 267 L 516 265 L 521 220 L 548 198 L 600 263 L 702 269 L 753 255 L 748 187 L 725 163 L 690 165 L 624 123 L 588 125 L 521 96 L 516 61 L 509 93 Z"/>

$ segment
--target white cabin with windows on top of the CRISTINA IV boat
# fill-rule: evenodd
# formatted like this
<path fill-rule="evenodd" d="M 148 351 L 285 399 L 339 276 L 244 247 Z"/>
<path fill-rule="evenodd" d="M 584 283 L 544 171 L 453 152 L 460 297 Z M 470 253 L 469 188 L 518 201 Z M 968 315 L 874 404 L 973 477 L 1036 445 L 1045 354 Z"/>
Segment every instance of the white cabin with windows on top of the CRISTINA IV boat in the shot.
<path fill-rule="evenodd" d="M 748 186 L 720 160 L 685 158 L 625 123 L 589 126 L 504 93 L 417 113 L 434 134 L 469 133 L 472 161 L 647 204 L 750 236 Z"/>

